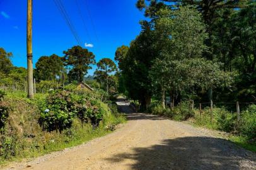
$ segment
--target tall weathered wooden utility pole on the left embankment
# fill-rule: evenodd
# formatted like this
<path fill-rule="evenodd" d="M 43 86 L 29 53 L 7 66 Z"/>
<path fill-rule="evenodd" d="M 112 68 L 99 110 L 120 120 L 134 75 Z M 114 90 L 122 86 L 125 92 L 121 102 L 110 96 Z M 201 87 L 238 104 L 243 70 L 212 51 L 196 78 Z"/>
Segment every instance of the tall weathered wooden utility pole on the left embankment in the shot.
<path fill-rule="evenodd" d="M 32 62 L 32 0 L 28 1 L 26 20 L 26 60 L 28 67 L 28 98 L 34 97 L 33 89 L 33 62 Z"/>

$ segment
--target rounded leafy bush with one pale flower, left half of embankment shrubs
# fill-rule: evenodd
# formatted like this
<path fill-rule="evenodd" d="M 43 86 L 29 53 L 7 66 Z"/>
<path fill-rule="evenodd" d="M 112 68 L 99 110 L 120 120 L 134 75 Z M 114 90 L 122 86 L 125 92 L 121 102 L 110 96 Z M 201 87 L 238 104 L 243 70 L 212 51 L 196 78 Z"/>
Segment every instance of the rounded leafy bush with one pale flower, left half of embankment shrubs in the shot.
<path fill-rule="evenodd" d="M 68 91 L 53 91 L 47 98 L 44 111 L 40 113 L 39 123 L 49 132 L 70 128 L 76 108 L 72 101 L 72 94 Z"/>

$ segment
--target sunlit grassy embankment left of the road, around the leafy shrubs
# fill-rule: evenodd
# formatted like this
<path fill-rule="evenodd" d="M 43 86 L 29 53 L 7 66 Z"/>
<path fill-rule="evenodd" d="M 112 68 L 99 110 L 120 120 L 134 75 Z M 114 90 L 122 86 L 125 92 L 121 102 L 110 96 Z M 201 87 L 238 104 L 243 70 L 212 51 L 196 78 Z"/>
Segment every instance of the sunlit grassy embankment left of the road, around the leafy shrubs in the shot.
<path fill-rule="evenodd" d="M 113 103 L 102 103 L 96 94 L 85 95 L 86 100 L 95 98 L 103 113 L 99 125 L 95 127 L 90 120 L 82 123 L 78 116 L 74 116 L 71 127 L 49 132 L 43 130 L 38 122 L 44 114 L 42 105 L 45 105 L 49 94 L 35 94 L 35 99 L 28 99 L 25 93 L 7 93 L 3 101 L 9 111 L 4 127 L 1 127 L 0 165 L 83 144 L 110 133 L 115 125 L 125 122 L 125 116 L 118 113 Z"/>

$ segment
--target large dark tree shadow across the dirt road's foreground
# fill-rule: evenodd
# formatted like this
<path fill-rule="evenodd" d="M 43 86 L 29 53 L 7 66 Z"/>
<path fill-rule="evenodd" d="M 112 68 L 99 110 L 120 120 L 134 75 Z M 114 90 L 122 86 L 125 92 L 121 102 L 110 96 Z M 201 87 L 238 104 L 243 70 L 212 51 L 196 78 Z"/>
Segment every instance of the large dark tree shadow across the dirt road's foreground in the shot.
<path fill-rule="evenodd" d="M 121 163 L 135 161 L 132 169 L 255 169 L 252 152 L 236 147 L 224 139 L 182 137 L 167 139 L 152 147 L 136 147 L 133 154 L 122 153 L 107 159 Z M 241 163 L 242 162 L 242 163 Z M 249 167 L 243 167 L 248 164 Z"/>

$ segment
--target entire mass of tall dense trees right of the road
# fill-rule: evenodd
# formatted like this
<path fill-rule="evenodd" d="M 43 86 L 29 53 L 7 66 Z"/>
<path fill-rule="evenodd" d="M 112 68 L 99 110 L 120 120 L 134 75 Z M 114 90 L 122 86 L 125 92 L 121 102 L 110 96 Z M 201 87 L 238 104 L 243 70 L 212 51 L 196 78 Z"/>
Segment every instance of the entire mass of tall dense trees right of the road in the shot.
<path fill-rule="evenodd" d="M 117 48 L 120 90 L 148 108 L 151 98 L 255 102 L 255 1 L 137 1 L 149 20 Z"/>

